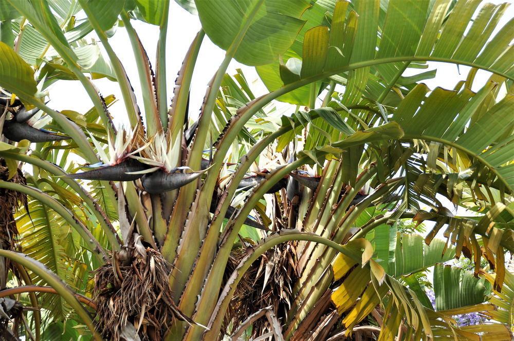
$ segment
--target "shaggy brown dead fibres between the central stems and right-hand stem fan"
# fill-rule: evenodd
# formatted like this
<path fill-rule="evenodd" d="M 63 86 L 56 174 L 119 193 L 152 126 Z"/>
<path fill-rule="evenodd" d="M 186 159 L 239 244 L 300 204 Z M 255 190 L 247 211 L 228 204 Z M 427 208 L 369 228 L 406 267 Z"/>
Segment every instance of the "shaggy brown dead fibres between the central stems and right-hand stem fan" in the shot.
<path fill-rule="evenodd" d="M 298 279 L 295 270 L 295 250 L 294 242 L 280 244 L 268 250 L 252 264 L 238 283 L 230 301 L 222 327 L 223 333 L 227 332 L 230 321 L 234 330 L 248 316 L 265 307 L 272 307 L 279 321 L 285 320 L 287 311 L 294 301 L 292 289 Z M 225 279 L 245 256 L 244 248 L 233 251 L 227 264 Z M 263 335 L 267 331 L 271 329 L 266 318 L 253 323 L 252 335 Z"/>

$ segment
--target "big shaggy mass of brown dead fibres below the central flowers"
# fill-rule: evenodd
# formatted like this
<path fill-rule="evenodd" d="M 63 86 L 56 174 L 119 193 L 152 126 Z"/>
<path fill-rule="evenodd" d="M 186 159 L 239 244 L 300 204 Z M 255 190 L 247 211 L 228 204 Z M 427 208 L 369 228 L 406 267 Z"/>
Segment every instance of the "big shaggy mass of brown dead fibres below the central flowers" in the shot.
<path fill-rule="evenodd" d="M 151 248 L 145 250 L 145 259 L 134 248 L 128 252 L 132 253 L 129 266 L 122 266 L 115 254 L 113 262 L 95 273 L 97 330 L 106 338 L 120 340 L 125 326 L 131 324 L 141 340 L 160 341 L 174 318 L 192 323 L 173 302 L 162 255 Z"/>

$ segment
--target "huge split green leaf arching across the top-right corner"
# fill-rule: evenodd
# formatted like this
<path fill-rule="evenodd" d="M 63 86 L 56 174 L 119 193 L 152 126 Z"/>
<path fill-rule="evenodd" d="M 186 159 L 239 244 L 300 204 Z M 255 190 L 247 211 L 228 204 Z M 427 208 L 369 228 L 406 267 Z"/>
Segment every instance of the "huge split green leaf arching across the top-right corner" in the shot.
<path fill-rule="evenodd" d="M 328 57 L 325 65 L 318 67 L 320 72 L 316 73 L 318 76 L 316 79 L 337 74 L 340 71 L 357 69 L 362 72 L 361 77 L 356 77 L 356 71 L 350 71 L 350 78 L 348 79 L 355 79 L 355 86 L 360 88 L 361 91 L 367 87 L 366 92 L 369 94 L 375 92 L 376 94 L 370 97 L 378 99 L 379 97 L 385 98 L 390 94 L 388 91 L 391 91 L 391 88 L 399 80 L 401 73 L 408 66 L 409 62 L 421 61 L 422 59 L 423 61 L 434 60 L 472 65 L 512 78 L 514 77 L 510 70 L 512 63 L 507 61 L 506 56 L 510 53 L 507 52 L 507 42 L 510 42 L 512 39 L 512 33 L 507 33 L 507 27 L 511 25 L 511 22 L 486 45 L 487 37 L 491 35 L 492 29 L 498 24 L 508 4 L 484 7 L 480 12 L 481 20 L 473 22 L 473 30 L 464 34 L 467 26 L 464 23 L 471 20 L 472 11 L 470 9 L 476 8 L 478 4 L 479 2 L 476 1 L 467 1 L 450 9 L 450 2 L 448 0 L 439 1 L 433 7 L 429 6 L 429 1 L 391 1 L 390 6 L 387 8 L 385 20 L 383 20 L 382 9 L 379 7 L 378 0 L 359 2 L 353 8 L 355 11 L 353 13 L 356 14 L 350 14 L 344 20 L 347 7 L 348 9 L 351 7 L 341 1 L 335 6 L 334 12 L 332 12 L 334 14 L 332 18 L 334 27 L 331 28 L 327 44 L 328 49 L 325 47 L 325 51 L 328 51 Z M 313 6 L 311 11 L 305 12 L 305 18 L 311 18 L 307 13 L 313 12 L 315 7 L 316 5 Z M 445 21 L 445 15 L 447 15 L 449 10 L 449 18 Z M 318 15 L 315 25 L 325 25 L 323 19 L 324 16 Z M 347 25 L 343 25 L 345 21 L 348 23 Z M 398 25 L 398 23 L 407 24 Z M 308 24 L 309 21 L 307 21 Z M 329 24 L 326 23 L 326 25 Z M 356 30 L 355 26 L 357 27 Z M 318 31 L 322 29 L 322 26 L 319 26 L 319 28 L 313 27 L 308 27 L 312 29 L 307 31 L 305 36 L 309 37 L 312 35 L 315 37 L 318 35 Z M 377 29 L 383 32 L 378 46 L 372 38 L 372 36 L 376 36 Z M 441 29 L 443 29 L 442 36 L 437 40 L 437 33 Z M 355 36 L 355 42 L 359 42 L 358 44 L 354 43 L 354 40 L 349 39 L 352 36 Z M 341 37 L 345 37 L 345 40 L 341 39 Z M 307 66 L 312 64 L 313 57 L 317 55 L 311 55 L 308 51 L 313 53 L 317 51 L 316 53 L 321 54 L 326 53 L 322 51 L 323 48 L 321 46 L 309 47 L 305 44 L 306 41 L 308 42 L 309 39 L 304 39 L 303 36 L 297 38 L 295 44 L 287 52 L 289 54 L 286 53 L 285 58 L 287 60 L 285 61 L 293 58 L 292 53 L 296 53 L 294 58 L 303 59 L 302 65 L 305 64 Z M 363 41 L 368 41 L 368 43 L 363 44 Z M 464 42 L 471 46 L 469 50 Z M 339 44 L 343 45 L 343 43 L 344 50 L 341 50 Z M 377 48 L 378 53 L 375 53 Z M 484 50 L 481 52 L 482 49 Z M 505 51 L 506 53 L 502 55 L 503 52 L 500 51 Z M 299 62 L 302 61 L 299 60 Z M 376 85 L 373 85 L 373 82 L 378 81 L 374 72 L 365 72 L 364 69 L 361 69 L 361 67 L 368 65 L 373 65 L 379 71 L 380 81 Z M 280 74 L 283 74 L 283 72 L 279 73 L 278 69 L 278 64 L 272 67 L 264 66 L 258 68 L 260 77 L 270 91 L 277 90 L 282 85 Z M 310 75 L 311 73 L 300 72 L 299 74 Z M 301 76 L 300 80 L 297 81 L 299 86 L 300 84 L 304 85 L 302 79 L 305 79 L 305 77 Z M 295 84 L 283 81 L 286 85 Z M 373 90 L 374 86 L 375 90 Z M 383 90 L 385 91 L 380 96 L 379 93 Z M 346 100 L 350 99 L 350 93 L 351 91 L 345 91 L 344 96 Z M 359 98 L 360 96 L 356 94 L 357 101 Z M 295 99 L 291 97 L 281 97 L 279 100 L 306 105 L 308 97 L 305 94 L 302 102 L 293 102 Z"/>

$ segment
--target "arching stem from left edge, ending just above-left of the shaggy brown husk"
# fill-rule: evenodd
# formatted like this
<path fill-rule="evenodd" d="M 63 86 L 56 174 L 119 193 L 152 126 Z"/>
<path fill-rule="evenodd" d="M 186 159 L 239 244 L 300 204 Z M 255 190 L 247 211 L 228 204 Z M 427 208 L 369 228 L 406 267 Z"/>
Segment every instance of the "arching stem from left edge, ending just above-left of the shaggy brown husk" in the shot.
<path fill-rule="evenodd" d="M 97 257 L 100 264 L 105 264 L 105 259 L 109 259 L 105 250 L 103 250 L 102 246 L 95 239 L 95 237 L 91 234 L 91 232 L 86 228 L 86 226 L 75 217 L 66 207 L 61 205 L 59 201 L 55 198 L 49 196 L 48 194 L 42 192 L 37 188 L 33 188 L 30 186 L 22 185 L 20 183 L 12 183 L 7 181 L 0 181 L 0 188 L 7 188 L 8 190 L 17 191 L 20 193 L 24 193 L 28 196 L 31 196 L 34 199 L 37 199 L 50 207 L 53 211 L 56 211 L 61 217 L 64 218 L 82 237 L 84 243 L 89 247 L 89 250 Z M 102 257 L 103 256 L 103 257 Z"/>

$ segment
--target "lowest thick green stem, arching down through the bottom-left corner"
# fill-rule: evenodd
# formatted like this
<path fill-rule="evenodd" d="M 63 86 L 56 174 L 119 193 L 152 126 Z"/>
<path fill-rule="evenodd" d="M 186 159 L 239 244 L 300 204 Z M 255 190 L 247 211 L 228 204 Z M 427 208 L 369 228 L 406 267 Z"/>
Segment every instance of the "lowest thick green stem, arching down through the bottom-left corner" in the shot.
<path fill-rule="evenodd" d="M 0 256 L 21 264 L 23 267 L 29 269 L 34 274 L 41 277 L 50 285 L 50 287 L 55 289 L 57 293 L 61 295 L 61 297 L 67 302 L 67 304 L 71 306 L 71 309 L 73 309 L 75 313 L 80 316 L 87 328 L 91 331 L 91 333 L 93 333 L 95 339 L 97 341 L 103 341 L 100 333 L 95 330 L 93 319 L 91 316 L 89 316 L 89 313 L 84 309 L 82 304 L 77 300 L 75 293 L 69 289 L 69 286 L 61 278 L 59 278 L 53 272 L 46 270 L 44 264 L 30 258 L 23 253 L 0 250 Z"/>

